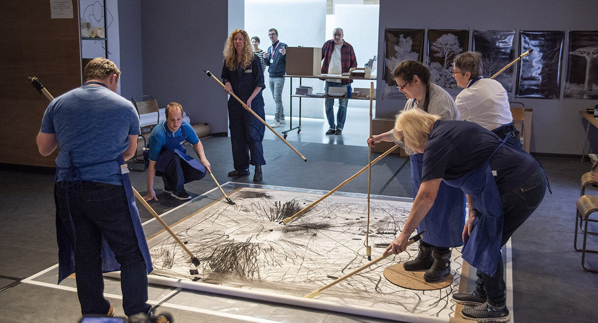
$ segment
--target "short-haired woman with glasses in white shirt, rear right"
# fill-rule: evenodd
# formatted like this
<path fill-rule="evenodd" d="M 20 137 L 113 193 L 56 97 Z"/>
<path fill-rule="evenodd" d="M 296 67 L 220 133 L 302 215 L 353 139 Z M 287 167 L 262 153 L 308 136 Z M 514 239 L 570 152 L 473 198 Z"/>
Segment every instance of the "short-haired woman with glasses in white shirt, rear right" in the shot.
<path fill-rule="evenodd" d="M 498 81 L 482 78 L 481 54 L 472 51 L 459 54 L 453 62 L 453 77 L 464 88 L 454 100 L 461 120 L 481 125 L 501 139 L 512 133 L 507 142 L 521 147 L 507 91 Z"/>

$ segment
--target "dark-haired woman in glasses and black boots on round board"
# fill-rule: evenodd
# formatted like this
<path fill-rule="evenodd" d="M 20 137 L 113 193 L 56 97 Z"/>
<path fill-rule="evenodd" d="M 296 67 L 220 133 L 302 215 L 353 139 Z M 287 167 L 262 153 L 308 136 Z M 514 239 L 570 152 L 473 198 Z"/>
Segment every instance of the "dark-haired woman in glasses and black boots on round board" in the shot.
<path fill-rule="evenodd" d="M 405 60 L 393 71 L 399 91 L 407 97 L 403 110 L 422 109 L 439 115 L 442 120 L 459 120 L 459 110 L 447 91 L 430 82 L 428 67 L 419 61 Z M 394 141 L 403 147 L 402 138 L 393 137 L 392 130 L 372 136 L 368 144 Z M 409 151 L 409 149 L 407 149 Z M 413 198 L 417 195 L 422 177 L 421 153 L 409 152 Z M 423 279 L 434 282 L 450 273 L 451 249 L 463 245 L 461 232 L 465 224 L 465 195 L 460 189 L 441 184 L 434 207 L 417 230 L 423 233 L 415 259 L 403 263 L 405 270 L 426 269 Z"/>

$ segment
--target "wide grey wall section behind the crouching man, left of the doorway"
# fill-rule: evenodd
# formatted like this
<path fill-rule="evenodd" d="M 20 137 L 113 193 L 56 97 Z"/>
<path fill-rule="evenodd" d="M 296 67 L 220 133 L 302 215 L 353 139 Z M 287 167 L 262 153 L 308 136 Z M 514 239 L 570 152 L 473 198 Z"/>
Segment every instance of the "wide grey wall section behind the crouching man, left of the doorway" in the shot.
<path fill-rule="evenodd" d="M 212 133 L 228 131 L 227 95 L 202 69 L 220 76 L 227 13 L 226 1 L 141 2 L 144 94 L 160 107 L 181 103 L 192 124 L 208 122 Z"/>

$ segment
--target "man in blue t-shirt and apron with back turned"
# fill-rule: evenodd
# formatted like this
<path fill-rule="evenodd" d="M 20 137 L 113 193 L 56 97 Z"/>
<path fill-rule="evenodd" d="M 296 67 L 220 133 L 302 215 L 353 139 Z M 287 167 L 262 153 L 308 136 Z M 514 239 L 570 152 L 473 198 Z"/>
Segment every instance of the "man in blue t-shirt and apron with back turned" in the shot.
<path fill-rule="evenodd" d="M 124 313 L 151 310 L 152 264 L 124 162 L 137 147 L 139 116 L 116 94 L 119 76 L 112 61 L 91 60 L 84 86 L 50 103 L 37 137 L 44 156 L 60 146 L 54 186 L 58 279 L 76 273 L 83 315 L 114 314 L 103 296 L 102 272 L 115 270 L 121 271 Z"/>

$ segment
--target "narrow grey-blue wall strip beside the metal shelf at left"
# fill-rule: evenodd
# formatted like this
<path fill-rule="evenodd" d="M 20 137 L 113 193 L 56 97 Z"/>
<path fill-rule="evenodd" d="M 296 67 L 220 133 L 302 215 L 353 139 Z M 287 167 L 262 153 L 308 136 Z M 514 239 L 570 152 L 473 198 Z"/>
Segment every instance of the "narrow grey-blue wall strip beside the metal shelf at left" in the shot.
<path fill-rule="evenodd" d="M 118 1 L 120 36 L 120 94 L 127 99 L 142 96 L 141 0 Z"/>

